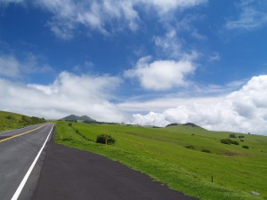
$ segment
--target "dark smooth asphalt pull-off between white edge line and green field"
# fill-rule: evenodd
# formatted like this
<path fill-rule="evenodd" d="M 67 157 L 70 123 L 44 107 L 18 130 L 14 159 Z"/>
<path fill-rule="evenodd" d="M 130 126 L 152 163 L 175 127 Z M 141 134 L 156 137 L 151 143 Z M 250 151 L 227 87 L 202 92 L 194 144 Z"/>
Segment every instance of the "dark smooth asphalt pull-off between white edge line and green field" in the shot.
<path fill-rule="evenodd" d="M 33 200 L 196 200 L 104 156 L 51 140 Z"/>

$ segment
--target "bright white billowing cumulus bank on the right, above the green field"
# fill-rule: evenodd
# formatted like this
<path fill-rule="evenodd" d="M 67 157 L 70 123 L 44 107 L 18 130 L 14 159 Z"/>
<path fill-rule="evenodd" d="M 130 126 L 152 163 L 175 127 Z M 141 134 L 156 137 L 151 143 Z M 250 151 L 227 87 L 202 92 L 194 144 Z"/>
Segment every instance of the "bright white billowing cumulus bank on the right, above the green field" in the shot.
<path fill-rule="evenodd" d="M 253 77 L 226 97 L 180 99 L 176 103 L 180 105 L 162 112 L 135 114 L 133 123 L 164 126 L 190 122 L 209 130 L 267 135 L 267 76 Z M 151 105 L 147 102 L 140 106 Z"/>

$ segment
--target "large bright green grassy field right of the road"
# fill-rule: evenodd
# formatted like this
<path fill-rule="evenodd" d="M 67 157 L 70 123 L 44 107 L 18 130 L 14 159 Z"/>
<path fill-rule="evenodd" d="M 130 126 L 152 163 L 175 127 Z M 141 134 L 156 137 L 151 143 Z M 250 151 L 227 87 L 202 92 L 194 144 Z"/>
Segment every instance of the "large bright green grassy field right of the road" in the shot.
<path fill-rule="evenodd" d="M 116 143 L 94 143 L 102 133 L 112 135 Z M 57 122 L 55 140 L 108 156 L 169 188 L 200 199 L 267 199 L 267 137 L 246 134 L 244 142 L 233 139 L 239 145 L 222 144 L 220 140 L 229 135 L 230 132 L 208 132 L 183 125 L 142 128 Z M 249 148 L 242 148 L 243 145 Z M 261 196 L 252 196 L 251 191 Z"/>

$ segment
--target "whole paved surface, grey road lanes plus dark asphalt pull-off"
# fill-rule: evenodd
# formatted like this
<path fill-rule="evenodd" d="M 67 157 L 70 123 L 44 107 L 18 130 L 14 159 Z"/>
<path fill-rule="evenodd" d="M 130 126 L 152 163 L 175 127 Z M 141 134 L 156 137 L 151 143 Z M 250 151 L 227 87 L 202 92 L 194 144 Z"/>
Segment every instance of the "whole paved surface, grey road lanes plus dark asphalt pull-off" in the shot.
<path fill-rule="evenodd" d="M 196 200 L 107 157 L 56 144 L 52 130 L 0 132 L 1 200 Z"/>

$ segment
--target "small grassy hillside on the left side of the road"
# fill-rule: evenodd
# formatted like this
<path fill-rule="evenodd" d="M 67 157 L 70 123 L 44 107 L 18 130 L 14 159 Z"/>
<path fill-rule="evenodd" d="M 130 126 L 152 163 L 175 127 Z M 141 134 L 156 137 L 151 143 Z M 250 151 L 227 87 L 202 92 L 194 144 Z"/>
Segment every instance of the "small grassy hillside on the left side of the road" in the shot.
<path fill-rule="evenodd" d="M 23 116 L 11 112 L 0 111 L 0 132 L 44 122 L 44 118 L 41 119 L 35 116 Z"/>

